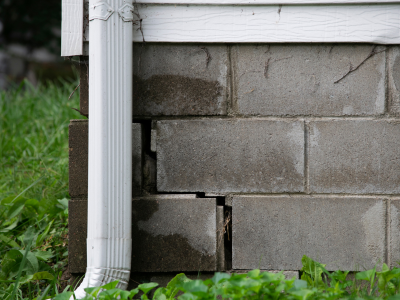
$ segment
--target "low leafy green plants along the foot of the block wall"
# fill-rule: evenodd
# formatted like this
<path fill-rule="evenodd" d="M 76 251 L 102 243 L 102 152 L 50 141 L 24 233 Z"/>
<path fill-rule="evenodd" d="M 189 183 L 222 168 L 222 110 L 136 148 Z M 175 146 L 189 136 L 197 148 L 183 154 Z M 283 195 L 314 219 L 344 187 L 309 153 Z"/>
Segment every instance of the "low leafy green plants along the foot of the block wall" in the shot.
<path fill-rule="evenodd" d="M 400 299 L 400 269 L 390 270 L 383 264 L 382 271 L 376 267 L 357 272 L 353 280 L 349 272 L 328 272 L 325 265 L 307 256 L 302 259 L 301 279 L 285 279 L 282 273 L 252 270 L 246 274 L 215 273 L 208 280 L 190 280 L 184 274 L 177 275 L 167 287 L 154 291 L 154 300 L 212 300 L 212 299 Z M 132 291 L 115 288 L 118 281 L 103 287 L 87 288 L 84 300 L 149 299 L 148 294 L 157 283 L 144 283 Z M 366 283 L 366 284 L 363 284 Z M 140 296 L 139 293 L 141 294 Z M 56 300 L 69 299 L 73 292 L 58 295 Z"/>

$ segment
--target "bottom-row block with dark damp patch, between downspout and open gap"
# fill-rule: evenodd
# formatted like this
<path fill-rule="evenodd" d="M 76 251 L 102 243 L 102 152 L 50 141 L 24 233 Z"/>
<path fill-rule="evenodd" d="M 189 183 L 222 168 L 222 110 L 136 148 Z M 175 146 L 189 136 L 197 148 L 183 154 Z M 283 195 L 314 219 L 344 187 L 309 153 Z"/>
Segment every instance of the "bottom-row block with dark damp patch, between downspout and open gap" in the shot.
<path fill-rule="evenodd" d="M 132 202 L 132 272 L 217 270 L 216 199 Z"/>

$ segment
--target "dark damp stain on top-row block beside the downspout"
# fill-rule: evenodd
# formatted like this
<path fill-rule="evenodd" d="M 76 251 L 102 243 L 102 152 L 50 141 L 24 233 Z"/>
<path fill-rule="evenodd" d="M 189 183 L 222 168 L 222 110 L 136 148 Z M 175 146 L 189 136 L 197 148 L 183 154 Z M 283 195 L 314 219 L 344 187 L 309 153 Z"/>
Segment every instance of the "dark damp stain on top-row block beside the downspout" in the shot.
<path fill-rule="evenodd" d="M 216 115 L 220 111 L 223 87 L 180 75 L 153 75 L 143 80 L 133 77 L 135 116 Z"/>

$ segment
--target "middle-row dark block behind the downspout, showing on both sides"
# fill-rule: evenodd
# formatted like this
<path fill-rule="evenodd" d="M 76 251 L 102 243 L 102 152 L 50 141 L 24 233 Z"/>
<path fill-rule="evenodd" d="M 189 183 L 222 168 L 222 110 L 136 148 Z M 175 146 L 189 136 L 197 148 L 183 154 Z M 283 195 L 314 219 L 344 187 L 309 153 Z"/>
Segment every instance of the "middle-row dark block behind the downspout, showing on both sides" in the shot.
<path fill-rule="evenodd" d="M 71 120 L 69 125 L 69 194 L 72 198 L 88 193 L 88 120 Z M 132 124 L 132 194 L 142 193 L 142 124 Z"/>

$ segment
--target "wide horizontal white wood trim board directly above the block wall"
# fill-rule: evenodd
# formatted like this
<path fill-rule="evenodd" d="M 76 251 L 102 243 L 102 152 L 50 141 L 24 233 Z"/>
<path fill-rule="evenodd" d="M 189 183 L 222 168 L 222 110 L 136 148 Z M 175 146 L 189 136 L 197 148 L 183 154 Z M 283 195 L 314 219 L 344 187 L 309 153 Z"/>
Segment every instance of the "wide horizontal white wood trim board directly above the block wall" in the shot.
<path fill-rule="evenodd" d="M 400 44 L 400 5 L 136 5 L 147 42 Z M 134 25 L 133 41 L 142 35 Z"/>

